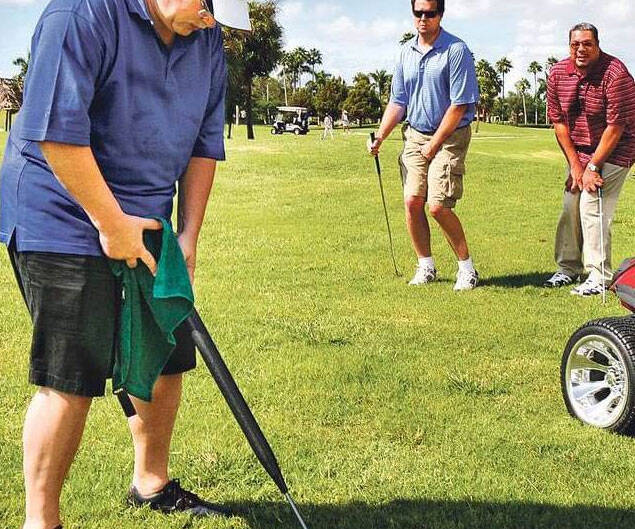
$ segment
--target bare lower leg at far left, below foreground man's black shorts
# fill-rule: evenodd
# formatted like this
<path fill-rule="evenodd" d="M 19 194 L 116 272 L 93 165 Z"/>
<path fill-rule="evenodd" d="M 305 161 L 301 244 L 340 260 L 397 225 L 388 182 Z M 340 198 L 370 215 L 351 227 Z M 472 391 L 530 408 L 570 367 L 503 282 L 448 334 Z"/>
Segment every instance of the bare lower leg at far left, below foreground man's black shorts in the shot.
<path fill-rule="evenodd" d="M 40 388 L 24 420 L 24 529 L 60 523 L 62 485 L 84 432 L 92 399 Z"/>

